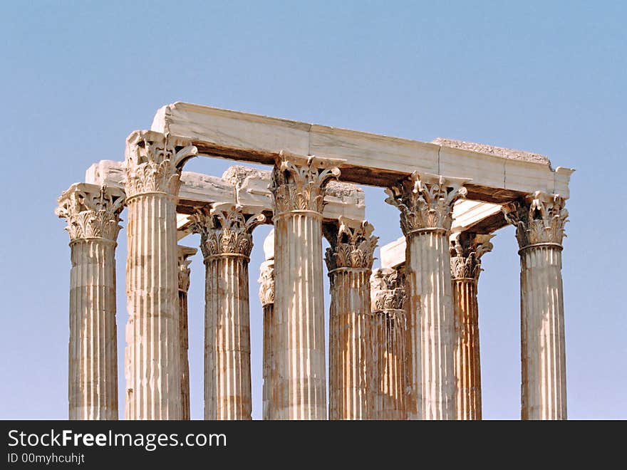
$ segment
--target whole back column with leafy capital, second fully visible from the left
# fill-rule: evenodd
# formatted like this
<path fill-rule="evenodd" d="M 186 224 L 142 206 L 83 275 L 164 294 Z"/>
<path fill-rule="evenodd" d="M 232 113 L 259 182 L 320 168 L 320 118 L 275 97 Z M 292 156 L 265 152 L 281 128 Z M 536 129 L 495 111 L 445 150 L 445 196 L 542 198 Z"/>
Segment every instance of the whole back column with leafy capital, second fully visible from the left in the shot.
<path fill-rule="evenodd" d="M 251 419 L 248 264 L 262 214 L 239 207 L 192 216 L 205 265 L 204 419 Z"/>

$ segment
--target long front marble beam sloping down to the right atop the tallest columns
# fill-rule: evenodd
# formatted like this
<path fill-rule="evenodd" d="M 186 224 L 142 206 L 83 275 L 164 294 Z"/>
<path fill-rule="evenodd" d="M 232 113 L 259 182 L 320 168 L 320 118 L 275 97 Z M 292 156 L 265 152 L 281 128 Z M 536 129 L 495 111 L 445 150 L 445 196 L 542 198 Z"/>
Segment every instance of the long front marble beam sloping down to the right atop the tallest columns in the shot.
<path fill-rule="evenodd" d="M 413 171 L 470 180 L 468 199 L 503 203 L 537 190 L 569 197 L 570 168 L 543 155 L 489 145 L 433 142 L 240 113 L 189 103 L 157 111 L 152 130 L 190 139 L 200 155 L 272 165 L 279 152 L 343 160 L 340 179 L 389 187 Z"/>

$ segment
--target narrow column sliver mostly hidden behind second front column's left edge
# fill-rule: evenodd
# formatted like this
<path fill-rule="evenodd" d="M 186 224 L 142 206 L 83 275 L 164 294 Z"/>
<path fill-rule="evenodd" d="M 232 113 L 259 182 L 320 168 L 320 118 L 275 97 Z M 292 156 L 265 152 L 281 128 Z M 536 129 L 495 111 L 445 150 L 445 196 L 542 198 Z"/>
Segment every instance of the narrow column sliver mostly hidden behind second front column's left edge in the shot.
<path fill-rule="evenodd" d="M 270 234 L 274 240 L 274 233 Z M 269 239 L 266 239 L 266 241 Z M 264 244 L 265 245 L 265 244 Z M 264 246 L 265 248 L 265 246 Z M 265 250 L 264 250 L 265 251 Z M 265 420 L 274 419 L 274 375 L 276 366 L 274 365 L 274 331 L 272 329 L 272 314 L 274 312 L 274 252 L 271 258 L 267 256 L 266 261 L 261 263 L 259 273 L 259 301 L 261 308 L 264 310 L 264 358 L 263 358 L 263 374 L 264 374 L 264 414 Z"/>

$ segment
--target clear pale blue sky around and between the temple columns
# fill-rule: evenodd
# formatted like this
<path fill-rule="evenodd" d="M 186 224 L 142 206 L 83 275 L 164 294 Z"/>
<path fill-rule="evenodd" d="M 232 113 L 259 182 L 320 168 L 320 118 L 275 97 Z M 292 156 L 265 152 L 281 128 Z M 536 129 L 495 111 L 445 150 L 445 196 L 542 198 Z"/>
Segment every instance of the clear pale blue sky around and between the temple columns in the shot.
<path fill-rule="evenodd" d="M 627 418 L 627 8 L 622 1 L 68 2 L 0 6 L 0 417 L 67 417 L 68 236 L 56 197 L 177 100 L 430 141 L 451 137 L 574 167 L 564 242 L 571 418 Z M 195 159 L 222 174 L 228 162 Z M 398 212 L 366 189 L 383 243 Z M 261 309 L 251 263 L 254 417 Z M 196 237 L 186 240 L 198 244 Z M 123 357 L 125 231 L 118 246 Z M 375 261 L 377 263 L 377 261 Z M 512 228 L 480 279 L 484 417 L 519 418 Z M 192 262 L 192 417 L 202 417 L 204 271 Z M 328 297 L 326 298 L 328 307 Z M 121 364 L 122 362 L 120 362 Z M 123 367 L 120 414 L 123 415 Z"/>

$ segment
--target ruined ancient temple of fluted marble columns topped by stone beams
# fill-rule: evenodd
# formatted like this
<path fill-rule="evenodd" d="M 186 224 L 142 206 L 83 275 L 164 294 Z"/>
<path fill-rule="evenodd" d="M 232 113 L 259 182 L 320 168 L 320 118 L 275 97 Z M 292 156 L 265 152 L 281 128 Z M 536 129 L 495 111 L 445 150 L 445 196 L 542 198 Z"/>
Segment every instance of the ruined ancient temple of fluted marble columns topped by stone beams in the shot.
<path fill-rule="evenodd" d="M 268 169 L 182 171 L 197 156 Z M 204 258 L 205 419 L 251 418 L 250 276 L 264 315 L 264 419 L 481 419 L 477 281 L 507 224 L 520 255 L 522 419 L 566 419 L 561 251 L 573 171 L 487 145 L 167 105 L 130 134 L 123 162 L 93 164 L 58 199 L 71 247 L 69 417 L 118 418 L 126 208 L 126 419 L 190 419 L 190 233 Z M 381 246 L 379 268 L 355 184 L 385 188 L 398 209 L 404 236 Z M 274 230 L 257 274 L 259 224 Z"/>

